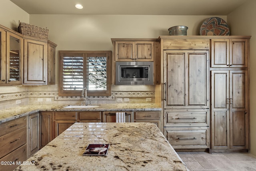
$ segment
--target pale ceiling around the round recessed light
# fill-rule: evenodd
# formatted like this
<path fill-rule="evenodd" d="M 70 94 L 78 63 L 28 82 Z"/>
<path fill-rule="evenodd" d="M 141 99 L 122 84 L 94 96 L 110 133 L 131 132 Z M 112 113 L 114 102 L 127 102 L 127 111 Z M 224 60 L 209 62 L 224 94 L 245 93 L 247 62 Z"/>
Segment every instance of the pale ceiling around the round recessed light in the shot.
<path fill-rule="evenodd" d="M 10 0 L 28 14 L 224 15 L 248 0 Z M 75 4 L 84 8 L 78 10 Z"/>

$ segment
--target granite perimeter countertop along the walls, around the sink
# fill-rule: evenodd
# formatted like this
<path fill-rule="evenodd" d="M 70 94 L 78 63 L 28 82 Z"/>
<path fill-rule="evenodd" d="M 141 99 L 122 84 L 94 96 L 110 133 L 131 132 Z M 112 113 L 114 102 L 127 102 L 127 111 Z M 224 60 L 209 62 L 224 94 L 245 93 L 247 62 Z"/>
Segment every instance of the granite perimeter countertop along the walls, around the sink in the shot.
<path fill-rule="evenodd" d="M 68 105 L 21 105 L 0 110 L 0 124 L 38 111 L 160 111 L 154 103 L 102 104 L 97 108 L 64 108 Z"/>

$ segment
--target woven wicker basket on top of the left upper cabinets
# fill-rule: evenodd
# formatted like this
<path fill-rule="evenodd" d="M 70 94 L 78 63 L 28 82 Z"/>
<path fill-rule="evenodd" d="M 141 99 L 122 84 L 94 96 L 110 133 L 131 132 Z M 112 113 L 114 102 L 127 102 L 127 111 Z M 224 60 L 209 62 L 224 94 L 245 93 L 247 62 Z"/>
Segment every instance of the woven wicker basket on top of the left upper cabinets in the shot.
<path fill-rule="evenodd" d="M 33 26 L 31 24 L 19 22 L 18 31 L 20 34 L 23 34 L 25 36 L 30 36 L 43 40 L 48 39 L 49 30 L 47 28 L 40 28 L 38 26 Z"/>

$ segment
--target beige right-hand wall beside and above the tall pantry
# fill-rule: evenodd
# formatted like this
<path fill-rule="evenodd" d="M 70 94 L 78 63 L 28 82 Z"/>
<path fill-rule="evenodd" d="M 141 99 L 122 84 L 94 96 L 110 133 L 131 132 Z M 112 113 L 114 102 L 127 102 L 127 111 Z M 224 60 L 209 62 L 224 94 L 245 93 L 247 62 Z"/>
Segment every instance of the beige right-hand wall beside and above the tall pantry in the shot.
<path fill-rule="evenodd" d="M 232 35 L 249 35 L 250 40 L 250 152 L 256 155 L 256 1 L 248 0 L 244 5 L 231 12 L 228 18 Z"/>

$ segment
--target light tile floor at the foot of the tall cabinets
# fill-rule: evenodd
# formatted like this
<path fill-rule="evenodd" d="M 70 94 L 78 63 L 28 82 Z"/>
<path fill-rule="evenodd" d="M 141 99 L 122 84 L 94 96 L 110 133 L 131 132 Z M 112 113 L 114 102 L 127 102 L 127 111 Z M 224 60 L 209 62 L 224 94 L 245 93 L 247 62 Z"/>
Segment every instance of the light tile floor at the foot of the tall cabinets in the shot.
<path fill-rule="evenodd" d="M 177 152 L 190 171 L 256 171 L 250 153 Z"/>

